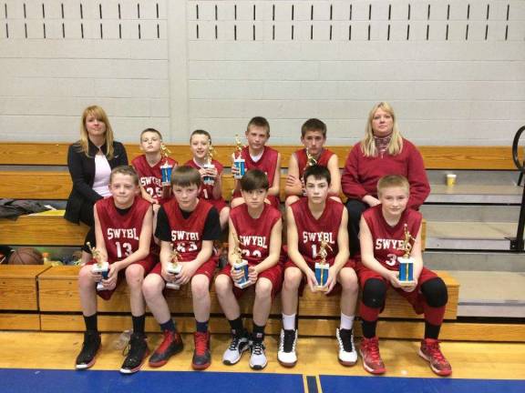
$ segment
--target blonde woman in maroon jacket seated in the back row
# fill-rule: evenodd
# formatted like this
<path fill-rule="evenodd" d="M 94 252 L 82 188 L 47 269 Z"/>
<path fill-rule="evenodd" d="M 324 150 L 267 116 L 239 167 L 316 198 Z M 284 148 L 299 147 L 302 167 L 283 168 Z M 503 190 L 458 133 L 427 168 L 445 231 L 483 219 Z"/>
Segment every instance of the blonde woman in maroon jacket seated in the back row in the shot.
<path fill-rule="evenodd" d="M 410 183 L 408 207 L 418 209 L 430 193 L 423 158 L 416 146 L 399 133 L 394 109 L 376 104 L 368 115 L 365 138 L 346 158 L 341 186 L 348 197 L 348 234 L 351 255 L 359 251 L 359 220 L 368 207 L 379 204 L 377 181 L 386 175 L 405 176 Z"/>

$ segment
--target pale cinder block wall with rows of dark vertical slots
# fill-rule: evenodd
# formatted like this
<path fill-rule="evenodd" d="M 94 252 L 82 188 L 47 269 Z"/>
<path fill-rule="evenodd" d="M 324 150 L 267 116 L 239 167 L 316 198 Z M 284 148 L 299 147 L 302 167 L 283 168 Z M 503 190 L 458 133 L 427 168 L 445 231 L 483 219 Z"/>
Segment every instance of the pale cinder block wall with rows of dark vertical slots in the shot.
<path fill-rule="evenodd" d="M 390 101 L 420 145 L 509 145 L 525 124 L 525 1 L 0 1 L 0 139 L 68 141 L 97 103 L 119 140 L 231 143 L 266 116 L 353 144 Z"/>

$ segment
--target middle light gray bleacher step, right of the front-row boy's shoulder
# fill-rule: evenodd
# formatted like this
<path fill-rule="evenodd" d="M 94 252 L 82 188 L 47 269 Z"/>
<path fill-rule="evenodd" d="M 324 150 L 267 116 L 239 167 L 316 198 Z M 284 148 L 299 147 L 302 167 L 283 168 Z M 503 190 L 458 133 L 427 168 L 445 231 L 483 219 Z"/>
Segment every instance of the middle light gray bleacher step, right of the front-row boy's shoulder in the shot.
<path fill-rule="evenodd" d="M 427 221 L 427 249 L 510 250 L 517 223 Z"/>

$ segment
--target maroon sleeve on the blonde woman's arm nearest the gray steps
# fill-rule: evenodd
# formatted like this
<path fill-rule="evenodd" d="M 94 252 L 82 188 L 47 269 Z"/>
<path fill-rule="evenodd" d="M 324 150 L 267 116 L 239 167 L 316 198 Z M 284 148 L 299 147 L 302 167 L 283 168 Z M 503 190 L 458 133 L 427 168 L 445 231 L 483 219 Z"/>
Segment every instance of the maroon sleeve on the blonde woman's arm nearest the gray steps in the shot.
<path fill-rule="evenodd" d="M 425 170 L 425 163 L 423 157 L 417 150 L 417 147 L 412 145 L 407 140 L 403 141 L 405 146 L 409 149 L 407 151 L 407 179 L 410 184 L 410 197 L 408 198 L 408 207 L 418 209 L 428 194 L 430 194 L 430 185 L 428 184 L 427 171 Z"/>

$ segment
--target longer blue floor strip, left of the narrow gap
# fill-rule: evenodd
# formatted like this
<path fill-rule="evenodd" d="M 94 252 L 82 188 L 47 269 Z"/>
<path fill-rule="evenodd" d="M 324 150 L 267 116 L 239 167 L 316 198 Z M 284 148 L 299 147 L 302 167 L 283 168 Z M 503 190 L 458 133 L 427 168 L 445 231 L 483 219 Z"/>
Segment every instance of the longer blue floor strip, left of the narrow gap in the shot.
<path fill-rule="evenodd" d="M 300 374 L 0 369 L 1 393 L 304 393 Z"/>

